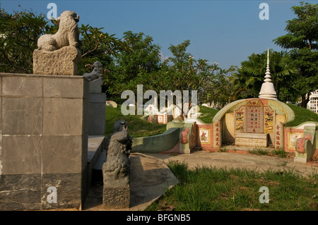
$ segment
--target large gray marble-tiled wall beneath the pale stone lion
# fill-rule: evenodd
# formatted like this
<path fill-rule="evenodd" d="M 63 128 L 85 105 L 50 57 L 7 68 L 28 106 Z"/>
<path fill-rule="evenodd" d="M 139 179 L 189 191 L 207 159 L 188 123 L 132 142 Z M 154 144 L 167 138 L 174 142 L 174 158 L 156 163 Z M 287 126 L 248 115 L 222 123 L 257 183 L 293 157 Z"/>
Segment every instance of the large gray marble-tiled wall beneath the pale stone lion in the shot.
<path fill-rule="evenodd" d="M 0 106 L 0 210 L 81 209 L 88 81 L 0 73 Z"/>

